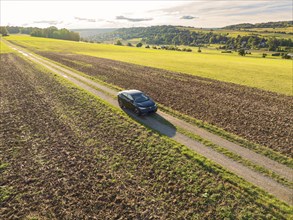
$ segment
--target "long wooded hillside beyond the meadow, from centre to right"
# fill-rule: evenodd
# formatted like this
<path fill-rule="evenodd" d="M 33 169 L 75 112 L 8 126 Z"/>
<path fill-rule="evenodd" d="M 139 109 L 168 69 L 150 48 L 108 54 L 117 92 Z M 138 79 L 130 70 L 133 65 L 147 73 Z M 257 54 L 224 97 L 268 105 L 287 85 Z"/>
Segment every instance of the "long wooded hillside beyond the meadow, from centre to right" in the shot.
<path fill-rule="evenodd" d="M 222 44 L 225 49 L 260 49 L 268 48 L 270 51 L 281 50 L 280 47 L 289 49 L 293 47 L 292 40 L 275 37 L 264 38 L 257 34 L 249 36 L 231 37 L 227 33 L 215 33 L 213 31 L 190 31 L 176 26 L 152 26 L 121 28 L 111 33 L 97 35 L 96 41 L 128 40 L 141 38 L 142 42 L 153 45 L 186 45 L 202 46 L 204 44 Z M 223 48 L 223 49 L 224 49 Z"/>

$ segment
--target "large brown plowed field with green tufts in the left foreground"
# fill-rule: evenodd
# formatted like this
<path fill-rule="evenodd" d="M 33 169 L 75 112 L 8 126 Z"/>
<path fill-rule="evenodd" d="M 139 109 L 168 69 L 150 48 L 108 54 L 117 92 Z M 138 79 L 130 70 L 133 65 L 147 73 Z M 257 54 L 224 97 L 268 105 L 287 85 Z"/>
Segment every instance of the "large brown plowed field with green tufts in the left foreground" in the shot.
<path fill-rule="evenodd" d="M 287 206 L 95 97 L 0 58 L 1 219 L 286 218 Z"/>

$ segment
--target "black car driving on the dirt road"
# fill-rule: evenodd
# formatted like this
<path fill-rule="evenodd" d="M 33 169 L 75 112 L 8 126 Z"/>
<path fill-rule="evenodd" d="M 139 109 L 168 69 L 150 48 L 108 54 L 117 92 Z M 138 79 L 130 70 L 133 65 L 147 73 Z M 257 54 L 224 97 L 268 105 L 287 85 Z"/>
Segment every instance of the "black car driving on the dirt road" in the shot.
<path fill-rule="evenodd" d="M 127 108 L 141 115 L 156 112 L 156 103 L 139 90 L 124 90 L 118 93 L 118 103 L 121 108 Z"/>

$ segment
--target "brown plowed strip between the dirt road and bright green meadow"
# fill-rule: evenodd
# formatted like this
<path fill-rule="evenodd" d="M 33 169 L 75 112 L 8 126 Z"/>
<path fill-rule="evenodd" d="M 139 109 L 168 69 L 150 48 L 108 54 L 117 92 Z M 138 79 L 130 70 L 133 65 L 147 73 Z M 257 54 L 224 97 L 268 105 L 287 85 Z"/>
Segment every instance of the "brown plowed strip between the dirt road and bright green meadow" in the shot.
<path fill-rule="evenodd" d="M 40 54 L 122 88 L 143 90 L 165 106 L 292 156 L 292 96 L 91 56 Z"/>

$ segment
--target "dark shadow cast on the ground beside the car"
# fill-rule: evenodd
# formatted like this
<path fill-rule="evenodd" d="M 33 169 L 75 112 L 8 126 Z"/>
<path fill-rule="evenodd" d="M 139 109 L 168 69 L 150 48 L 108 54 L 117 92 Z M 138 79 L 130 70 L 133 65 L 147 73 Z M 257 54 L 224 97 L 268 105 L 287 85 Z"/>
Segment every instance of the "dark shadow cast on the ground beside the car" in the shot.
<path fill-rule="evenodd" d="M 123 109 L 123 111 L 132 119 L 137 121 L 140 124 L 143 124 L 147 126 L 148 128 L 155 130 L 163 135 L 166 135 L 168 137 L 175 136 L 177 129 L 176 127 L 169 122 L 167 119 L 165 119 L 163 116 L 161 116 L 158 113 L 152 113 L 152 114 L 146 114 L 138 116 L 134 112 Z"/>

